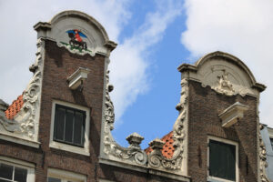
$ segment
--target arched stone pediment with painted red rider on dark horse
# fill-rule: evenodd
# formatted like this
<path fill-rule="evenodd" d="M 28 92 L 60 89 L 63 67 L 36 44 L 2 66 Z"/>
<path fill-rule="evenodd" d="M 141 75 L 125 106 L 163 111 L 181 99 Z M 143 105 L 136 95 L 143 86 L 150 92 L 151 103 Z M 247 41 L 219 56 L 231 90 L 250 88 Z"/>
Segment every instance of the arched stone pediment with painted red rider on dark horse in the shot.
<path fill-rule="evenodd" d="M 34 26 L 38 37 L 55 41 L 60 47 L 80 56 L 102 54 L 109 56 L 116 48 L 105 28 L 93 17 L 78 11 L 64 11 L 50 22 L 39 22 Z"/>

